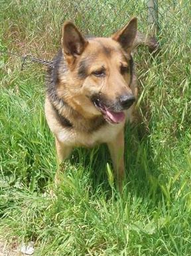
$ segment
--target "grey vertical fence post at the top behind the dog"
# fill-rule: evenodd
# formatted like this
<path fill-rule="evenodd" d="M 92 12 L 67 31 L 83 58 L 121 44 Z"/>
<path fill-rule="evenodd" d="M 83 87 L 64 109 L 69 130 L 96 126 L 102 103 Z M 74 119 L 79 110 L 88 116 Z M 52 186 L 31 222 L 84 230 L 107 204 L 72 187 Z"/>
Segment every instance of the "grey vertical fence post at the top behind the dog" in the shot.
<path fill-rule="evenodd" d="M 159 31 L 158 0 L 147 0 L 147 7 L 149 27 L 153 34 L 157 34 Z"/>

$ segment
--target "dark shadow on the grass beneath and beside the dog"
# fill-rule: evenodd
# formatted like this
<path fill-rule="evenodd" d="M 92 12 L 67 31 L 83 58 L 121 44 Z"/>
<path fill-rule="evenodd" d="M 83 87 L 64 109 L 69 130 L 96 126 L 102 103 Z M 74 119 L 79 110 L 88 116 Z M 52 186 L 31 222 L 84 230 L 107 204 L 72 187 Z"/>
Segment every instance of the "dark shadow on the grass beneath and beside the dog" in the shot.
<path fill-rule="evenodd" d="M 94 149 L 75 149 L 70 158 L 72 165 L 83 166 L 84 175 L 87 174 L 90 180 L 92 194 L 97 193 L 99 187 L 100 191 L 109 196 L 111 186 L 108 181 L 107 162 L 113 170 L 106 145 Z M 130 192 L 139 197 L 150 197 L 153 202 L 160 200 L 159 163 L 154 160 L 149 134 L 143 123 L 134 127 L 127 124 L 125 127 L 125 172 L 125 194 Z"/>

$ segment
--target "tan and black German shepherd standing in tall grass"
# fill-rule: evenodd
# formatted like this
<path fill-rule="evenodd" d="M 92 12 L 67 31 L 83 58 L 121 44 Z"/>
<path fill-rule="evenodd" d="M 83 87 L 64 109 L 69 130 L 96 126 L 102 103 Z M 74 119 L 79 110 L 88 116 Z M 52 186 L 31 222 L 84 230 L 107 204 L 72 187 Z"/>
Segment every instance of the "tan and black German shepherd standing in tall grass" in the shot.
<path fill-rule="evenodd" d="M 125 121 L 135 117 L 137 83 L 131 53 L 137 44 L 157 48 L 155 38 L 137 32 L 136 17 L 109 38 L 85 38 L 66 22 L 62 48 L 47 76 L 45 114 L 58 162 L 74 147 L 106 143 L 120 189 L 125 176 Z"/>

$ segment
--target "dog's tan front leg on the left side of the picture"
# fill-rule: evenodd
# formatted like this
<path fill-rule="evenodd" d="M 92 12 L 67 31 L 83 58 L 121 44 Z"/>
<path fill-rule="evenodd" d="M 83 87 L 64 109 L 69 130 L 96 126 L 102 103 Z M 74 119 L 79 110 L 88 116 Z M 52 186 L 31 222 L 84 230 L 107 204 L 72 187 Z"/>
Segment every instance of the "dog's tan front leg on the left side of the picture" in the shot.
<path fill-rule="evenodd" d="M 61 174 L 64 170 L 64 167 L 61 165 L 62 161 L 70 157 L 70 153 L 72 152 L 72 147 L 66 146 L 63 143 L 60 143 L 58 139 L 55 138 L 56 143 L 56 153 L 57 153 L 57 162 L 58 162 L 58 168 L 56 170 L 54 182 L 55 184 L 60 184 L 61 180 Z"/>

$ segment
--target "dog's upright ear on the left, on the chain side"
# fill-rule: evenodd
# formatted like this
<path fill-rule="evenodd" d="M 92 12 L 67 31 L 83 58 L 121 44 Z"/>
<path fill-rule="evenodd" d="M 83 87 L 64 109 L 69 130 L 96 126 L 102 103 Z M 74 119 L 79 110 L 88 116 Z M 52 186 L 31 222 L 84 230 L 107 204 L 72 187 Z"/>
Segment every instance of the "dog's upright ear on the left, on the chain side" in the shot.
<path fill-rule="evenodd" d="M 86 48 L 88 41 L 78 31 L 76 26 L 66 21 L 62 29 L 62 48 L 68 64 L 72 64 Z"/>

